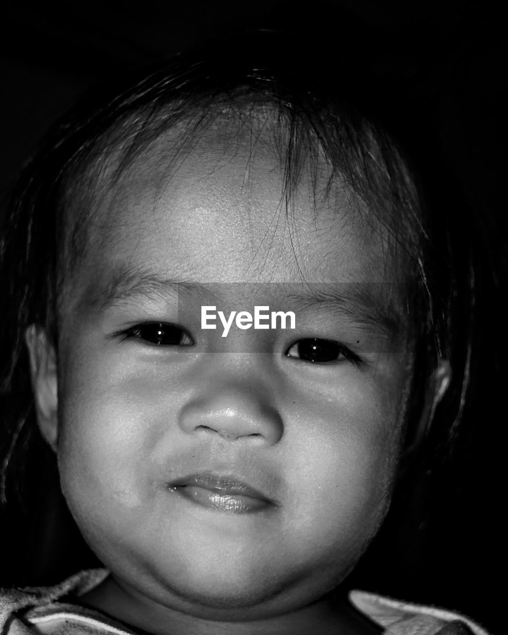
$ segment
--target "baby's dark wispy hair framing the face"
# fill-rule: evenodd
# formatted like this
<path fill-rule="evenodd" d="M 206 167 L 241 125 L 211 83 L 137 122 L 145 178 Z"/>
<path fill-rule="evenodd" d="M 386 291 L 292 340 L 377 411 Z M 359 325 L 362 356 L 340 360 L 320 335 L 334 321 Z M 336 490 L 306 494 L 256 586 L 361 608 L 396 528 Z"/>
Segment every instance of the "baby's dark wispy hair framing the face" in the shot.
<path fill-rule="evenodd" d="M 25 477 L 27 470 L 34 477 L 30 448 L 38 444 L 37 451 L 43 451 L 29 397 L 23 333 L 37 323 L 56 337 L 58 300 L 86 248 L 86 221 L 104 180 L 105 161 L 116 153 L 104 181 L 108 187 L 177 123 L 185 124 L 190 138 L 224 109 L 252 114 L 257 105 L 269 107 L 279 130 L 286 131 L 286 194 L 300 156 L 316 155 L 319 149 L 330 182 L 340 175 L 410 256 L 416 289 L 411 314 L 416 319 L 409 418 L 421 410 L 438 359 L 448 359 L 452 368 L 450 389 L 411 469 L 415 474 L 428 471 L 450 453 L 467 405 L 474 355 L 478 255 L 467 229 L 472 227 L 467 207 L 459 205 L 456 190 L 455 196 L 446 194 L 452 190 L 451 177 L 439 165 L 439 153 L 431 157 L 423 109 L 414 96 L 403 97 L 403 86 L 380 76 L 372 51 L 358 50 L 345 36 L 340 48 L 326 37 L 306 36 L 305 43 L 295 42 L 296 37 L 250 32 L 145 69 L 130 79 L 128 88 L 109 89 L 107 97 L 67 116 L 23 170 L 1 243 L 2 305 L 8 307 L 2 328 L 7 363 L 1 377 L 4 505 L 19 505 L 23 496 L 30 499 Z M 79 210 L 70 204 L 69 191 L 79 195 L 75 200 L 86 201 Z M 462 234 L 457 232 L 459 212 L 467 229 Z M 49 451 L 46 458 L 51 460 Z M 414 479 L 406 483 L 412 485 L 401 486 L 404 504 L 415 487 Z M 414 523 L 419 522 L 415 516 Z"/>

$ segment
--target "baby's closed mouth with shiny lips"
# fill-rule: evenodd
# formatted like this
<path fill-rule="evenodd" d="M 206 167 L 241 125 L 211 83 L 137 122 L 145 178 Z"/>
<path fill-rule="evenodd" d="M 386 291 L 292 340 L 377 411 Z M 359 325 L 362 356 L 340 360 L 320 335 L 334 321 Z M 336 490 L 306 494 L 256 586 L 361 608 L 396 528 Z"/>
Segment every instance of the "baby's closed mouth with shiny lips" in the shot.
<path fill-rule="evenodd" d="M 278 507 L 262 492 L 229 475 L 191 474 L 169 483 L 168 489 L 196 505 L 223 514 L 251 514 Z"/>

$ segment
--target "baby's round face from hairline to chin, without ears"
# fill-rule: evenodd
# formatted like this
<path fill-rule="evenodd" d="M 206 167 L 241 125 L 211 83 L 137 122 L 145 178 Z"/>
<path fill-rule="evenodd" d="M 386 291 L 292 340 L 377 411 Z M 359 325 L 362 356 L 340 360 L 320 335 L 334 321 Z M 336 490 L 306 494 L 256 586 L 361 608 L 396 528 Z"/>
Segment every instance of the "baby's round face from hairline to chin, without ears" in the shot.
<path fill-rule="evenodd" d="M 287 611 L 344 578 L 387 509 L 408 380 L 399 280 L 347 196 L 316 210 L 304 175 L 286 218 L 268 141 L 208 131 L 169 180 L 163 147 L 104 202 L 72 281 L 62 488 L 133 597 Z M 223 338 L 203 305 L 293 311 L 296 328 Z"/>

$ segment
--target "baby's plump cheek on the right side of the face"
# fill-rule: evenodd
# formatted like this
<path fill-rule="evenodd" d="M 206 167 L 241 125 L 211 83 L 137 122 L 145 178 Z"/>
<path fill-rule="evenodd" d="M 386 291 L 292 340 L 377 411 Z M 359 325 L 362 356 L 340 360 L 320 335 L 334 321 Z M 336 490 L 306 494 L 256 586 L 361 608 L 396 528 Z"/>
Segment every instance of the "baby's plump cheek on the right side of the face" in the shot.
<path fill-rule="evenodd" d="M 341 558 L 360 554 L 389 504 L 401 428 L 397 409 L 377 387 L 356 394 L 346 384 L 336 401 L 302 411 L 300 418 L 307 431 L 302 427 L 292 440 L 292 453 L 300 457 L 294 495 L 299 490 L 307 503 L 300 505 L 300 531 L 324 554 L 326 545 Z"/>

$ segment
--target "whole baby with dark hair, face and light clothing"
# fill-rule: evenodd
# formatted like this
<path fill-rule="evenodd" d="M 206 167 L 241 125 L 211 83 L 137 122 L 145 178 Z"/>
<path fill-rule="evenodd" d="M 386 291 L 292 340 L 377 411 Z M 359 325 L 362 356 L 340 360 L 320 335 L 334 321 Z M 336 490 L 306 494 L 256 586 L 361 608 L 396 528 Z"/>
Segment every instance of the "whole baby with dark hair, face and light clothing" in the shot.
<path fill-rule="evenodd" d="M 485 633 L 344 595 L 449 388 L 454 274 L 373 79 L 289 46 L 164 62 L 28 168 L 4 385 L 26 347 L 33 427 L 105 568 L 4 592 L 5 632 Z"/>

